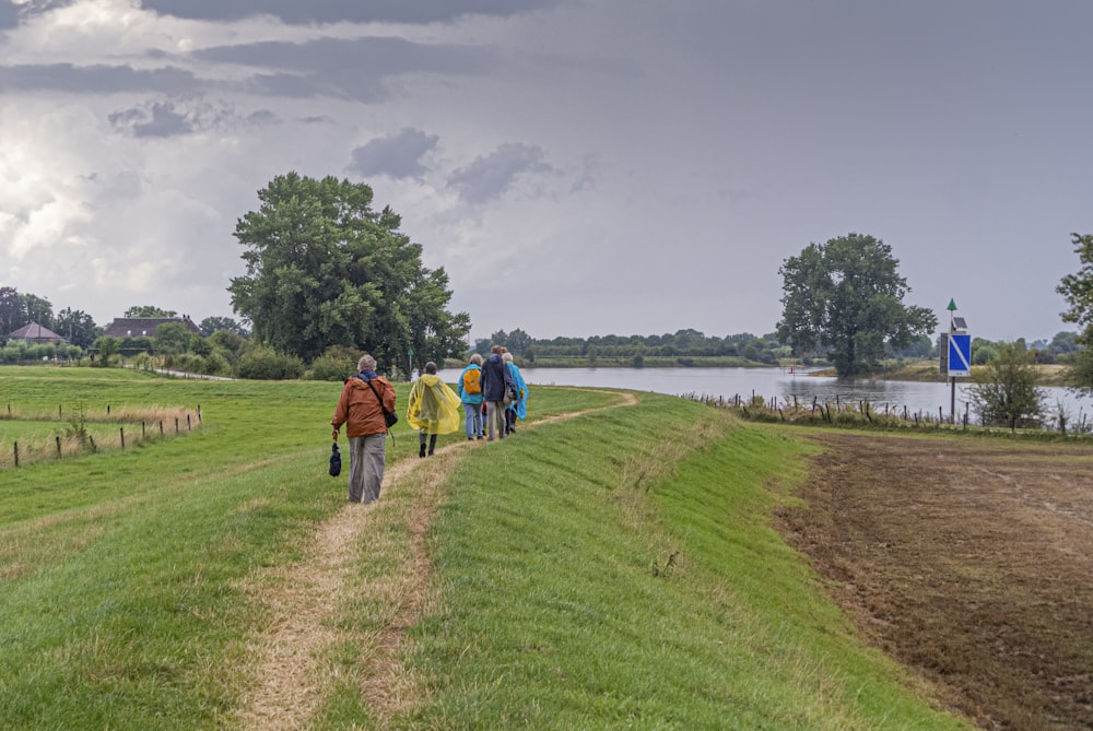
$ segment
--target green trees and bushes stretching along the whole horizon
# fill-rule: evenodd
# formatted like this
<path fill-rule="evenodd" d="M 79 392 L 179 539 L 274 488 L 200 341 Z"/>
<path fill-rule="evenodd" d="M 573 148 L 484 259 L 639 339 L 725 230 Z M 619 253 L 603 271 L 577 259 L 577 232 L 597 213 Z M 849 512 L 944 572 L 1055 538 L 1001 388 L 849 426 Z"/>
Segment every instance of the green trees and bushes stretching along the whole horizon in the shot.
<path fill-rule="evenodd" d="M 334 361 L 367 351 L 392 375 L 409 375 L 403 364 L 408 372 L 413 363 L 463 358 L 492 344 L 505 345 L 529 365 L 643 366 L 666 359 L 684 366 L 773 365 L 789 359 L 830 363 L 841 376 L 868 375 L 892 358 L 937 355 L 937 317 L 904 303 L 910 287 L 898 273 L 898 260 L 889 245 L 869 235 L 812 243 L 784 260 L 783 316 L 769 333 L 707 337 L 686 329 L 548 340 L 516 329 L 469 346 L 470 316 L 449 310 L 447 273 L 424 267 L 422 246 L 401 232 L 401 216 L 390 207 L 373 208 L 371 187 L 292 172 L 259 190 L 258 201 L 234 232 L 246 264 L 246 273 L 227 286 L 238 320 L 207 318 L 197 339 L 167 327 L 144 340 L 107 341 L 85 311 L 66 308 L 55 316 L 47 299 L 4 286 L 0 335 L 36 321 L 107 362 L 150 352 L 219 356 L 238 369 L 249 352 L 265 354 L 265 362 L 285 373 L 326 370 Z M 1018 350 L 1031 362 L 1071 363 L 1074 382 L 1093 390 L 1093 241 L 1074 234 L 1073 244 L 1082 270 L 1065 278 L 1058 291 L 1071 303 L 1063 320 L 1082 329 L 1060 332 L 1049 342 L 1019 341 Z M 126 316 L 174 313 L 138 306 Z M 990 363 L 1000 350 L 1000 343 L 977 339 L 973 362 Z"/>

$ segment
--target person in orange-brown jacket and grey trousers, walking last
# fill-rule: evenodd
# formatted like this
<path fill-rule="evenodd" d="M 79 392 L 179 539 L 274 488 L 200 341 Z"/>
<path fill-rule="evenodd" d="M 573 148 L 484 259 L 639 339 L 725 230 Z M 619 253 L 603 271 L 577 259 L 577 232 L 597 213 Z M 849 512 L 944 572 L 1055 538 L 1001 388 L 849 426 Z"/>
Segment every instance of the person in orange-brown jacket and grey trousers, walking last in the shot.
<path fill-rule="evenodd" d="M 345 425 L 349 437 L 349 502 L 375 503 L 384 483 L 387 420 L 395 411 L 395 387 L 376 375 L 376 358 L 367 353 L 356 364 L 357 374 L 345 379 L 334 406 L 333 439 Z"/>

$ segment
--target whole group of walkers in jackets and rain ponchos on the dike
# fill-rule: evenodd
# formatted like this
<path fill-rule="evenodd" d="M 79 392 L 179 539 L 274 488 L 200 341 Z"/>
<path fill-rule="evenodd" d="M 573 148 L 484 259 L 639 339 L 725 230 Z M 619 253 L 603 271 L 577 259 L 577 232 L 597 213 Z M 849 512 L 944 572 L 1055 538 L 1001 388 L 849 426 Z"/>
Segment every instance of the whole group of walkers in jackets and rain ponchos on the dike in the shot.
<path fill-rule="evenodd" d="M 338 435 L 345 425 L 350 443 L 349 499 L 365 505 L 379 499 L 384 482 L 386 436 L 398 420 L 395 415 L 395 387 L 376 374 L 376 359 L 365 354 L 357 362 L 357 373 L 346 378 L 334 406 L 331 475 L 341 469 Z M 418 431 L 418 456 L 434 453 L 436 437 L 451 434 L 463 422 L 467 439 L 504 439 L 516 432 L 517 420 L 528 415 L 528 386 L 513 354 L 494 345 L 489 357 L 474 353 L 459 374 L 456 390 L 437 375 L 435 363 L 426 363 L 421 377 L 410 388 L 407 423 Z M 371 392 L 371 393 L 369 393 Z M 463 416 L 460 418 L 459 406 Z"/>

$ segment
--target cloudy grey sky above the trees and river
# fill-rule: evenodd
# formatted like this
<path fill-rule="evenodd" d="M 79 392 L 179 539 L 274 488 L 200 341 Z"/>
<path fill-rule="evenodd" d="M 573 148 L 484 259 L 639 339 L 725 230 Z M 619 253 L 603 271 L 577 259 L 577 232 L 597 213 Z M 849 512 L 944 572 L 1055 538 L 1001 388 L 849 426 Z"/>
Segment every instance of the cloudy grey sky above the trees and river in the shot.
<path fill-rule="evenodd" d="M 850 233 L 907 305 L 1074 330 L 1089 0 L 0 0 L 0 286 L 236 317 L 236 222 L 367 184 L 472 339 L 773 332 Z"/>

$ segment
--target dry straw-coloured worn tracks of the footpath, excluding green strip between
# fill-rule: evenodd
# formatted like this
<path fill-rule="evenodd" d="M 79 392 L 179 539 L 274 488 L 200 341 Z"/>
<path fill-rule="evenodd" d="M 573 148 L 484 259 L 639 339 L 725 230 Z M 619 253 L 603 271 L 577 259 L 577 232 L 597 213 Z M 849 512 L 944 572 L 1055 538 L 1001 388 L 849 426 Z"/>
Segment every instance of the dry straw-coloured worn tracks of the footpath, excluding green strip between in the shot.
<path fill-rule="evenodd" d="M 598 390 L 598 389 L 586 389 Z M 576 416 L 638 403 L 634 393 L 600 391 L 620 397 L 615 404 L 555 414 L 524 425 L 533 429 Z M 414 499 L 406 515 L 410 529 L 410 563 L 413 570 L 409 582 L 391 588 L 399 604 L 383 628 L 367 637 L 351 637 L 332 626 L 344 588 L 351 583 L 357 565 L 363 537 L 378 524 L 380 504 L 368 506 L 346 504 L 336 515 L 320 523 L 295 564 L 278 567 L 258 577 L 246 587 L 270 611 L 267 628 L 250 647 L 257 658 L 255 676 L 259 685 L 243 698 L 239 720 L 245 729 L 303 729 L 321 708 L 327 697 L 327 677 L 321 673 L 320 658 L 326 648 L 337 642 L 365 642 L 363 655 L 368 658 L 367 672 L 361 679 L 361 689 L 369 707 L 381 719 L 390 718 L 404 703 L 399 692 L 406 671 L 398 661 L 407 628 L 422 616 L 422 602 L 432 577 L 432 561 L 427 551 L 428 529 L 444 496 L 444 484 L 463 450 L 484 443 L 459 441 L 437 449 L 425 461 L 404 458 L 391 465 L 384 475 L 384 495 L 390 496 L 410 481 L 418 481 Z M 428 470 L 423 468 L 428 467 Z"/>

